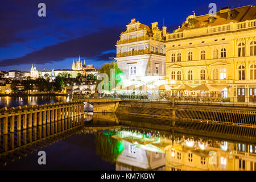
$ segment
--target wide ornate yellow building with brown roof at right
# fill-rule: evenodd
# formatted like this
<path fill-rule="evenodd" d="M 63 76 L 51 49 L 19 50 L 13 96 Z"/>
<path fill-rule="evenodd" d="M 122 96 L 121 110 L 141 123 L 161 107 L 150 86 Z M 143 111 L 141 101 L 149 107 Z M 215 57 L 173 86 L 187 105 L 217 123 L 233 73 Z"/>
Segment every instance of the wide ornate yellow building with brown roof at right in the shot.
<path fill-rule="evenodd" d="M 256 102 L 255 12 L 248 5 L 222 8 L 216 16 L 189 15 L 166 34 L 166 79 L 174 86 L 209 84 L 231 101 Z"/>

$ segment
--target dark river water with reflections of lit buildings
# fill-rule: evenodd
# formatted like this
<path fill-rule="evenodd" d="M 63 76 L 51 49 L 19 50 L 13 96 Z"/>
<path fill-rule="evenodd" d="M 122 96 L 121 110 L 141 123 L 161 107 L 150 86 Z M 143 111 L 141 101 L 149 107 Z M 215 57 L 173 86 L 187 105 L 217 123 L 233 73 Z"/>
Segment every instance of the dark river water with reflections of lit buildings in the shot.
<path fill-rule="evenodd" d="M 70 99 L 2 97 L 0 104 L 40 105 Z M 70 122 L 8 136 L 1 133 L 0 154 L 42 136 L 72 134 L 39 148 L 46 152 L 46 165 L 38 164 L 38 151 L 34 151 L 0 170 L 256 170 L 255 128 L 96 113 L 86 114 L 79 127 Z"/>

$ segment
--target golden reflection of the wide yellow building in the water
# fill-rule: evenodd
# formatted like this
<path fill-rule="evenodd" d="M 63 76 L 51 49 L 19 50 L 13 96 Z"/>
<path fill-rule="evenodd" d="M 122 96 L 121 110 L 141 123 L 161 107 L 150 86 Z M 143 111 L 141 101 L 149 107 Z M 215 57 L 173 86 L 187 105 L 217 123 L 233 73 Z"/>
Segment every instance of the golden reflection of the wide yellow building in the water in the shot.
<path fill-rule="evenodd" d="M 166 151 L 166 169 L 255 171 L 255 156 L 255 144 L 180 138 Z"/>

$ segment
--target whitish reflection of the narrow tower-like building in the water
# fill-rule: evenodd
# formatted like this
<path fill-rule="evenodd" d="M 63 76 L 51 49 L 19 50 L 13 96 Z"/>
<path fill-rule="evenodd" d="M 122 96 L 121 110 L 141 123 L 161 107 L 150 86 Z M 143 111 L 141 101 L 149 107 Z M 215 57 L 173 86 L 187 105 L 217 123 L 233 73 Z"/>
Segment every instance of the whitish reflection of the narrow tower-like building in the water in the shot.
<path fill-rule="evenodd" d="M 159 138 L 127 131 L 112 137 L 123 140 L 124 146 L 116 161 L 117 171 L 165 170 L 165 154 L 157 147 Z"/>

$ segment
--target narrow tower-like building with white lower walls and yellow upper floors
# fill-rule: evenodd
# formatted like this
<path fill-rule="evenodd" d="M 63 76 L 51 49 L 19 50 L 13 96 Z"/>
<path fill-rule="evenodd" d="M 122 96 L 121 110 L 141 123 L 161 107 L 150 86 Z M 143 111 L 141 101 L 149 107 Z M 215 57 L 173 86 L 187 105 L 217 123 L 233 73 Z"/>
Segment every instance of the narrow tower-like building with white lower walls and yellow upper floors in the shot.
<path fill-rule="evenodd" d="M 150 27 L 131 19 L 115 45 L 115 60 L 123 71 L 125 80 L 146 82 L 163 78 L 166 74 L 166 34 L 166 27 L 160 30 L 157 22 Z"/>

